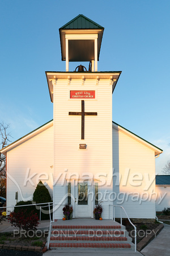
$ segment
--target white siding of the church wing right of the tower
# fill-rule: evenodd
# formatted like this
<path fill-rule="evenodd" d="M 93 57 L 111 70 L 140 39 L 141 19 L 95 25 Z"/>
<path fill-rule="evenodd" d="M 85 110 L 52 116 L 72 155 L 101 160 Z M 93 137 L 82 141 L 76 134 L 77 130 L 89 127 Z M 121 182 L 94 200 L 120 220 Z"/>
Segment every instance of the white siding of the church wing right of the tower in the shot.
<path fill-rule="evenodd" d="M 131 218 L 155 218 L 154 150 L 113 128 L 113 168 L 113 204 L 122 205 Z"/>

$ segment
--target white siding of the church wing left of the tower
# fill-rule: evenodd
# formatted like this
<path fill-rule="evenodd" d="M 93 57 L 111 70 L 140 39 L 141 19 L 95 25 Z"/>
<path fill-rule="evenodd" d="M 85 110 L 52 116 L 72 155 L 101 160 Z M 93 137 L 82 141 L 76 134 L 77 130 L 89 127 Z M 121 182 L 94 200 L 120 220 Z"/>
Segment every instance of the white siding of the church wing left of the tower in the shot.
<path fill-rule="evenodd" d="M 7 152 L 7 206 L 32 200 L 39 180 L 53 196 L 53 126 Z M 29 170 L 30 169 L 30 170 Z M 29 170 L 29 173 L 27 171 Z M 30 179 L 29 179 L 30 178 Z M 24 181 L 25 182 L 24 184 Z"/>

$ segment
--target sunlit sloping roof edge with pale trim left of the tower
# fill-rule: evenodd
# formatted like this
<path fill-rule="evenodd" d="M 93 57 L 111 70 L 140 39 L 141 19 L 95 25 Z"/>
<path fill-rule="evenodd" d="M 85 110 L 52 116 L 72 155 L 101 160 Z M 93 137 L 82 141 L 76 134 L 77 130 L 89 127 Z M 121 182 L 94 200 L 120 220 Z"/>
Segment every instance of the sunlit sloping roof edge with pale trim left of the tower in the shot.
<path fill-rule="evenodd" d="M 49 122 L 44 123 L 44 125 L 41 125 L 40 127 L 36 128 L 35 130 L 31 131 L 30 133 L 24 135 L 23 137 L 17 139 L 16 141 L 12 142 L 11 144 L 9 144 L 8 146 L 2 148 L 0 150 L 0 152 L 3 155 L 6 155 L 6 152 L 11 150 L 12 148 L 19 146 L 19 144 L 27 141 L 28 139 L 32 138 L 33 136 L 41 133 L 42 131 L 50 128 L 51 126 L 53 126 L 53 119 L 50 120 Z"/>

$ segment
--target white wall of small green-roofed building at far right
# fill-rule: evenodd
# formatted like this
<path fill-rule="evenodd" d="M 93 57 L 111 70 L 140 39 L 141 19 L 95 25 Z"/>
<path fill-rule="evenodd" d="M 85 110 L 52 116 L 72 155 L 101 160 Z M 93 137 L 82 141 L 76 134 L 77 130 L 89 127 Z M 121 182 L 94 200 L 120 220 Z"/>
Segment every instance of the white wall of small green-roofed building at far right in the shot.
<path fill-rule="evenodd" d="M 156 212 L 162 212 L 164 208 L 170 207 L 170 187 L 167 185 L 156 185 Z"/>

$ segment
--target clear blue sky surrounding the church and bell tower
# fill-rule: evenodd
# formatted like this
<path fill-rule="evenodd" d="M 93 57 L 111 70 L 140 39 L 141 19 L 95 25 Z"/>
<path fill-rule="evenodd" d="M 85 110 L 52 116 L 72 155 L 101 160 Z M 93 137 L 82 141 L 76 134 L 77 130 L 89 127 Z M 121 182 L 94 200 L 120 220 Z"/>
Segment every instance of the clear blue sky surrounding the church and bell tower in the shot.
<path fill-rule="evenodd" d="M 58 28 L 83 14 L 105 28 L 98 71 L 122 71 L 113 121 L 163 148 L 162 174 L 170 159 L 169 13 L 169 0 L 1 1 L 0 120 L 11 123 L 12 141 L 53 118 L 45 71 L 65 71 Z"/>

